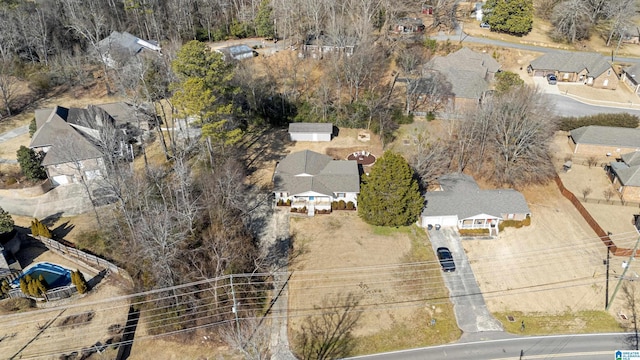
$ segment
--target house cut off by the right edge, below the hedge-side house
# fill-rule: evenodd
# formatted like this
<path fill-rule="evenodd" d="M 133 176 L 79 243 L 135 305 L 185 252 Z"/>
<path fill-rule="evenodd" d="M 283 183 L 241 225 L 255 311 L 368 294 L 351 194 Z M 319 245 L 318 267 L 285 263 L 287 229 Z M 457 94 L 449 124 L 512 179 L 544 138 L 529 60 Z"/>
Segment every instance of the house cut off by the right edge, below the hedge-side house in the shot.
<path fill-rule="evenodd" d="M 623 201 L 640 201 L 640 151 L 622 154 L 622 161 L 612 161 L 607 173 Z"/>

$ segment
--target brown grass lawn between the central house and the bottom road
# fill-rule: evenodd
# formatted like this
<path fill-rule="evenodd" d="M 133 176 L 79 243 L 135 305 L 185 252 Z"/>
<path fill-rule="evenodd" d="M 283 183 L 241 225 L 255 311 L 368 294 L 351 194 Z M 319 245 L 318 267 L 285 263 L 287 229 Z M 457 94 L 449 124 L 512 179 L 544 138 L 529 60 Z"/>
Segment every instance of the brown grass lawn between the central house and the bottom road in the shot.
<path fill-rule="evenodd" d="M 460 336 L 448 290 L 423 230 L 370 226 L 355 212 L 293 218 L 290 337 L 306 317 L 349 293 L 361 299 L 355 354 L 447 343 Z M 326 310 L 326 309 L 325 309 Z M 436 325 L 429 322 L 436 319 Z"/>

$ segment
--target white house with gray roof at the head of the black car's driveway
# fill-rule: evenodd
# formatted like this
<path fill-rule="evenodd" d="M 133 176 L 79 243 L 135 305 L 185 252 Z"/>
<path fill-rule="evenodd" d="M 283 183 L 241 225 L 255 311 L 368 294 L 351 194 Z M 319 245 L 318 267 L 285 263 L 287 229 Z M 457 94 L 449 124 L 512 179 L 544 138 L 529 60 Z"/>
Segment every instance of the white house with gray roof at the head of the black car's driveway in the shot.
<path fill-rule="evenodd" d="M 513 189 L 481 190 L 473 177 L 449 174 L 438 178 L 442 191 L 425 194 L 421 226 L 489 229 L 498 234 L 503 220 L 524 220 L 531 215 L 524 196 Z"/>

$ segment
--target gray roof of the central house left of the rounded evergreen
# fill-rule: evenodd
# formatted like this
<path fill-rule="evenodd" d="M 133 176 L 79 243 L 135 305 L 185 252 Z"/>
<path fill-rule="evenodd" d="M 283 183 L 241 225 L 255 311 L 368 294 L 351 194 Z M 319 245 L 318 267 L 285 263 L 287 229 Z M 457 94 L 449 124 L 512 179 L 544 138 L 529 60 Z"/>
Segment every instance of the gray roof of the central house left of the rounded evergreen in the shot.
<path fill-rule="evenodd" d="M 276 167 L 275 190 L 292 195 L 316 192 L 331 196 L 337 192 L 360 192 L 358 163 L 333 160 L 310 150 L 290 154 Z"/>

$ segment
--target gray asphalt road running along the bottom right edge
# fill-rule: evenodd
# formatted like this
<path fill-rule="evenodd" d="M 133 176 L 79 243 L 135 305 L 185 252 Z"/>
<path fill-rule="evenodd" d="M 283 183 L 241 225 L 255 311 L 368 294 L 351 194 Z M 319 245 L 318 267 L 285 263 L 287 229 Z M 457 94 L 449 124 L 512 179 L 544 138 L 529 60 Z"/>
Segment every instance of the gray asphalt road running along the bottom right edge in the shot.
<path fill-rule="evenodd" d="M 614 359 L 615 350 L 632 349 L 630 334 L 585 334 L 516 337 L 432 346 L 428 348 L 358 356 L 350 359 Z M 522 351 L 522 358 L 520 357 Z"/>

